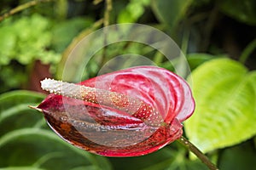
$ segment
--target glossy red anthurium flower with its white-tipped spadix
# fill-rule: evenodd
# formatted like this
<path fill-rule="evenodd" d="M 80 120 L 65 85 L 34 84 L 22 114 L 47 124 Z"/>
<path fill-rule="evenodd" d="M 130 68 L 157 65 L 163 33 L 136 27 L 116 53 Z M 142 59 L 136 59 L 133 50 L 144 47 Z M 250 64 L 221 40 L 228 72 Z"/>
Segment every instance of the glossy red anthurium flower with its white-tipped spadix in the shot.
<path fill-rule="evenodd" d="M 181 137 L 195 102 L 188 84 L 155 66 L 137 66 L 79 84 L 45 79 L 38 105 L 70 144 L 102 156 L 142 156 Z"/>

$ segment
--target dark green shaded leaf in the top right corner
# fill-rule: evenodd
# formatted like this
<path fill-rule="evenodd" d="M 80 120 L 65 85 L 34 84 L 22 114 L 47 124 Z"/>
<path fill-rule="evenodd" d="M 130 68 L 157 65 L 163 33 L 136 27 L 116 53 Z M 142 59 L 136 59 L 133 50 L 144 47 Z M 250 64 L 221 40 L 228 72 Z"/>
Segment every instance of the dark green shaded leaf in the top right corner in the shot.
<path fill-rule="evenodd" d="M 225 0 L 218 1 L 220 9 L 241 22 L 248 25 L 256 25 L 256 1 L 255 0 Z"/>

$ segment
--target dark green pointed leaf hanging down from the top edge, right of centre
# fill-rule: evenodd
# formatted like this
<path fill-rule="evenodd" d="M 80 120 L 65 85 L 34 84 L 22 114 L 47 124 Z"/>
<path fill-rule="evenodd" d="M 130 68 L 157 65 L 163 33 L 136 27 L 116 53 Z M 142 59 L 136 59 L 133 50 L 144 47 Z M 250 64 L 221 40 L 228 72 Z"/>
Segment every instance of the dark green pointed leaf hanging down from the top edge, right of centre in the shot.
<path fill-rule="evenodd" d="M 183 19 L 192 0 L 153 0 L 152 8 L 156 17 L 174 28 Z"/>

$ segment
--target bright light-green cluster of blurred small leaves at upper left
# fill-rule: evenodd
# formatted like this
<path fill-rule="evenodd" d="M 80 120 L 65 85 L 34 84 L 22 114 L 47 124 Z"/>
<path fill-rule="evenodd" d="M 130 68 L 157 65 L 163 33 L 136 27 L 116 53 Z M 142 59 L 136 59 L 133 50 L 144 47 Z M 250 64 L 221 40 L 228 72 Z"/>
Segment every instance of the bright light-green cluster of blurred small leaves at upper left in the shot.
<path fill-rule="evenodd" d="M 3 20 L 0 25 L 0 65 L 9 65 L 17 60 L 28 65 L 35 59 L 43 63 L 57 63 L 60 54 L 49 50 L 52 34 L 50 20 L 38 14 L 19 20 Z M 28 50 L 29 49 L 29 50 Z"/>

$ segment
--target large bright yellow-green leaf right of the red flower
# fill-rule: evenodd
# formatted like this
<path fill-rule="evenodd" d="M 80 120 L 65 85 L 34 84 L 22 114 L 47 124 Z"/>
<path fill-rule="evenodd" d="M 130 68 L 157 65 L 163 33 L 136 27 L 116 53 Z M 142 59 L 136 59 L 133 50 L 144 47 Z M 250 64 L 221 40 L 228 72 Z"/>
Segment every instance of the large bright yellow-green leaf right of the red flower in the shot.
<path fill-rule="evenodd" d="M 185 131 L 201 150 L 238 144 L 256 134 L 255 71 L 231 59 L 212 59 L 197 67 L 189 82 L 196 107 Z"/>

